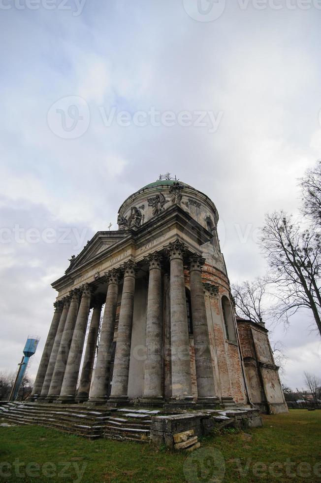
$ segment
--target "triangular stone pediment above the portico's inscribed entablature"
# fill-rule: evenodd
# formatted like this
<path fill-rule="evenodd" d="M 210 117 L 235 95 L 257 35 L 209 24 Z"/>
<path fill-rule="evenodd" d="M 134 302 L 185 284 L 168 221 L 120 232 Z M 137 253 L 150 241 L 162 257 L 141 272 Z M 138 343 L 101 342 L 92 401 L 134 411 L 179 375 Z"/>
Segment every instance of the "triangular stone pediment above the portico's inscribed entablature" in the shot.
<path fill-rule="evenodd" d="M 84 249 L 74 259 L 71 258 L 70 265 L 65 271 L 68 272 L 75 270 L 84 263 L 90 263 L 96 255 L 108 250 L 115 243 L 126 238 L 127 234 L 120 231 L 110 232 L 97 232 L 96 235 L 90 240 Z"/>

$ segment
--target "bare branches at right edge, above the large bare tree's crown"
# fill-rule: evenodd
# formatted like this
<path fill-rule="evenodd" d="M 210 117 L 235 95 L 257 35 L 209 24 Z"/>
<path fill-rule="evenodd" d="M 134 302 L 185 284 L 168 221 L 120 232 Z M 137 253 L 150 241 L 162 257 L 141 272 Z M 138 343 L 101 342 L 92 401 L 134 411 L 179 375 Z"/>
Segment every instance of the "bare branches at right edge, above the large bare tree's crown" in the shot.
<path fill-rule="evenodd" d="M 302 212 L 321 226 L 321 161 L 300 179 Z"/>

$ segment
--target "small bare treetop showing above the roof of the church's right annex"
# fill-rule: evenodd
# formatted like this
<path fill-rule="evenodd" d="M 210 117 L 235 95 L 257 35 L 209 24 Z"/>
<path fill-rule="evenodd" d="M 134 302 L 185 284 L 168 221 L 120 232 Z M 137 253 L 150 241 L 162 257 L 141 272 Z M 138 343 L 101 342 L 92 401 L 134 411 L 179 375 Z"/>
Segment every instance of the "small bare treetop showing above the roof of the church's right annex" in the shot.
<path fill-rule="evenodd" d="M 266 281 L 259 277 L 253 282 L 247 280 L 232 285 L 232 294 L 239 314 L 257 323 L 262 323 L 264 318 L 263 299 L 265 293 Z"/>

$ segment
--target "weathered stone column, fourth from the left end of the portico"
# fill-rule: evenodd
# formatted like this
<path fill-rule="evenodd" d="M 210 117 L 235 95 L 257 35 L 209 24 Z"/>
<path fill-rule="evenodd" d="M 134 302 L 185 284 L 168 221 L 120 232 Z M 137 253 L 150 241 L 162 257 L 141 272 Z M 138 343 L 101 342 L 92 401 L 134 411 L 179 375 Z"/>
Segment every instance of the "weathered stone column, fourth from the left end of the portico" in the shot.
<path fill-rule="evenodd" d="M 88 283 L 82 286 L 80 290 L 82 294 L 81 301 L 72 335 L 67 365 L 64 373 L 64 380 L 59 396 L 59 400 L 64 403 L 73 403 L 75 401 L 75 392 L 81 358 L 84 350 L 90 302 L 92 298 L 92 287 Z"/>

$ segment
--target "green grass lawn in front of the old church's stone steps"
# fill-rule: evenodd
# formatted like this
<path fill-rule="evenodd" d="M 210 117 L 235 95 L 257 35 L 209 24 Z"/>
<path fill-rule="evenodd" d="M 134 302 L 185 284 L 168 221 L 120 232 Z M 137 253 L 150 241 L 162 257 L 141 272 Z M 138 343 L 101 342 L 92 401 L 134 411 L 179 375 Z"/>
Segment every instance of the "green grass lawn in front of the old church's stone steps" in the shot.
<path fill-rule="evenodd" d="M 321 411 L 263 416 L 192 453 L 99 439 L 40 426 L 0 427 L 1 482 L 321 482 Z"/>

